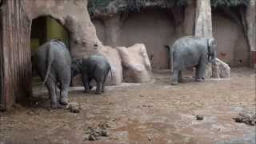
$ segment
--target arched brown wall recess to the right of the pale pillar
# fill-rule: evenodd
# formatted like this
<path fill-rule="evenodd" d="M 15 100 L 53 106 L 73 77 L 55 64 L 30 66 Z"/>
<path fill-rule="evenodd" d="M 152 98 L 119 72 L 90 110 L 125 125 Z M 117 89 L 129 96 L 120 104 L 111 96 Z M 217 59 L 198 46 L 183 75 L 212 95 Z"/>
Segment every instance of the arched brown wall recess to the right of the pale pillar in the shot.
<path fill-rule="evenodd" d="M 242 25 L 221 10 L 214 10 L 212 19 L 214 38 L 218 42 L 218 58 L 230 66 L 249 66 L 250 47 Z"/>

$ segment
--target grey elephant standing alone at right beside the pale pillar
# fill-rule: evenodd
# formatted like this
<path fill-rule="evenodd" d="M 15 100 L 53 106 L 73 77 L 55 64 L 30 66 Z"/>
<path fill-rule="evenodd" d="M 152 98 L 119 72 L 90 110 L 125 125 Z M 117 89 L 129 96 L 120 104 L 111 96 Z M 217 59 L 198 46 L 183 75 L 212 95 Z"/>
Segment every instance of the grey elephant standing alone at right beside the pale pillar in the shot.
<path fill-rule="evenodd" d="M 166 46 L 169 47 L 170 46 Z M 170 62 L 172 63 L 172 85 L 182 82 L 182 70 L 186 67 L 196 68 L 195 80 L 204 80 L 206 64 L 216 58 L 216 42 L 214 38 L 186 36 L 178 38 L 171 46 Z"/>

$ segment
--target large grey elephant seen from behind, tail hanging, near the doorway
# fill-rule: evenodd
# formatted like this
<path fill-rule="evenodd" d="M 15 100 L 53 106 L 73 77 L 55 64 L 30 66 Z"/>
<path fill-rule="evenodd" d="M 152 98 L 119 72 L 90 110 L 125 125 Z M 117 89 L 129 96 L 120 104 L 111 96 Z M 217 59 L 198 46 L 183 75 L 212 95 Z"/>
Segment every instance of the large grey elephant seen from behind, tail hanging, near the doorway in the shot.
<path fill-rule="evenodd" d="M 68 104 L 71 81 L 71 57 L 66 45 L 58 39 L 39 46 L 34 54 L 33 65 L 49 90 L 50 107 L 57 109 Z M 60 89 L 58 101 L 57 87 Z"/>

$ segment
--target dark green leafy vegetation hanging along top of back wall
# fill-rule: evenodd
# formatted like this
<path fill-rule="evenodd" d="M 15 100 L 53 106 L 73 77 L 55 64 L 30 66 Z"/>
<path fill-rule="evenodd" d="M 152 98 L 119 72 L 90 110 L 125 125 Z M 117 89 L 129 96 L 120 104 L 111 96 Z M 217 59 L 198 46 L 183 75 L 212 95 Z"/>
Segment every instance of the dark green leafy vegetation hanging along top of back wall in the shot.
<path fill-rule="evenodd" d="M 122 13 L 140 11 L 147 6 L 170 8 L 172 6 L 186 6 L 190 0 L 89 0 L 90 14 Z M 250 0 L 210 0 L 211 6 L 249 6 Z"/>

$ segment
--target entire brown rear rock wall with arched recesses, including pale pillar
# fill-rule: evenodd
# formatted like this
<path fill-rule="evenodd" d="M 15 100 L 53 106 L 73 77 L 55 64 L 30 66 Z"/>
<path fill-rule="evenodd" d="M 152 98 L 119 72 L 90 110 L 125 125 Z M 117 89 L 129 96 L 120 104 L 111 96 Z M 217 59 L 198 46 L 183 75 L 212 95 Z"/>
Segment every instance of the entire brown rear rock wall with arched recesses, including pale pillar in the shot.
<path fill-rule="evenodd" d="M 107 45 L 131 46 L 136 42 L 145 43 L 153 69 L 169 67 L 166 50 L 158 48 L 166 43 L 166 39 L 169 39 L 171 44 L 176 38 L 191 34 L 203 37 L 214 36 L 218 42 L 219 60 L 230 66 L 250 66 L 253 60 L 251 51 L 255 51 L 256 42 L 255 1 L 250 0 L 246 13 L 239 10 L 241 6 L 237 6 L 238 13 L 235 15 L 239 22 L 235 22 L 232 15 L 223 14 L 221 10 L 211 10 L 209 0 L 187 2 L 183 12 L 177 7 L 170 6 L 168 10 L 163 10 L 158 9 L 157 6 L 149 6 L 141 9 L 139 13 L 122 14 L 122 16 L 111 13 L 109 17 L 106 17 L 106 14 L 104 17 L 96 16 L 93 22 L 98 37 Z M 166 32 L 162 32 L 164 30 Z"/>

